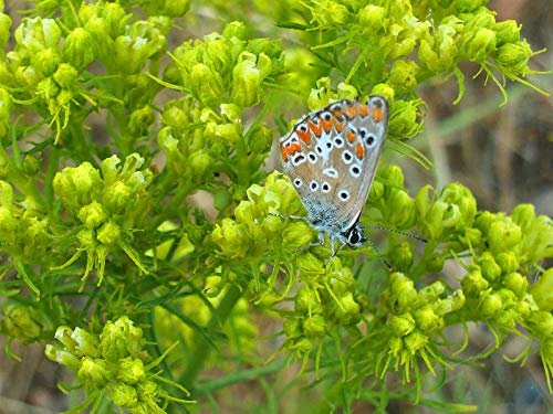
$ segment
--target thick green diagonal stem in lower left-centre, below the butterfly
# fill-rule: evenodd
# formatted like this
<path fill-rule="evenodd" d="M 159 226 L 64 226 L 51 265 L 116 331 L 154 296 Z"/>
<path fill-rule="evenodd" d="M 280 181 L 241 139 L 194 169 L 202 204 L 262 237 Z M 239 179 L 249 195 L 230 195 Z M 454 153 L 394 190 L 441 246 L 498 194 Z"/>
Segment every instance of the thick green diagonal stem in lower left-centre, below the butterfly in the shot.
<path fill-rule="evenodd" d="M 242 293 L 243 289 L 241 287 L 229 285 L 228 291 L 225 294 L 219 307 L 213 311 L 211 320 L 207 326 L 208 332 L 219 329 L 225 323 L 238 299 L 242 296 Z M 189 390 L 192 389 L 191 391 L 194 392 L 194 383 L 209 357 L 211 346 L 199 335 L 196 335 L 196 340 L 190 341 L 190 343 L 196 343 L 196 348 L 188 359 L 188 367 L 180 376 L 178 383 L 186 383 L 187 388 Z"/>

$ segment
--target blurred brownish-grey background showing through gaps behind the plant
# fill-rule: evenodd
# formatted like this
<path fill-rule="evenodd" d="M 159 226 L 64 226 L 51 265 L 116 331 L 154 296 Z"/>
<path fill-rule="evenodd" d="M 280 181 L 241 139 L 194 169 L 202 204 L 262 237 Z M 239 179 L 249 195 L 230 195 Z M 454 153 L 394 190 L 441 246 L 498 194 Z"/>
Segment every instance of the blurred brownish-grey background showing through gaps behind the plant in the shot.
<path fill-rule="evenodd" d="M 190 17 L 185 18 L 186 28 L 175 39 L 170 39 L 173 49 L 190 38 L 201 38 L 211 31 L 220 31 L 223 23 L 240 19 L 242 8 L 237 8 L 238 15 L 221 20 L 216 6 L 194 3 Z M 248 2 L 246 2 L 248 3 Z M 255 3 L 254 1 L 252 3 Z M 13 21 L 12 29 L 21 21 L 20 11 L 32 7 L 25 1 L 7 1 L 4 12 Z M 275 8 L 279 6 L 275 4 Z M 553 39 L 553 3 L 550 0 L 510 0 L 491 1 L 489 8 L 498 12 L 497 20 L 514 19 L 522 23 L 522 38 L 532 50 L 551 49 Z M 278 36 L 276 28 L 270 21 L 255 14 L 248 19 L 259 21 L 260 35 Z M 243 17 L 242 17 L 243 18 Z M 267 19 L 267 18 L 265 18 Z M 267 26 L 265 26 L 267 25 Z M 187 38 L 188 36 L 188 38 Z M 177 39 L 178 38 L 178 39 Z M 10 44 L 8 45 L 10 47 Z M 546 51 L 531 62 L 535 71 L 549 71 L 553 67 L 553 54 Z M 431 182 L 441 188 L 451 181 L 459 181 L 471 189 L 480 210 L 504 211 L 510 213 L 519 203 L 532 203 L 538 214 L 553 215 L 553 108 L 551 97 L 538 94 L 533 89 L 519 85 L 507 85 L 509 103 L 499 107 L 502 96 L 497 86 L 489 82 L 483 86 L 483 76 L 472 79 L 478 72 L 474 64 L 463 64 L 467 91 L 458 105 L 452 102 L 458 95 L 453 81 L 424 85 L 419 92 L 427 103 L 425 131 L 409 144 L 425 153 L 435 164 L 435 170 L 424 170 L 416 162 L 397 153 L 386 155 L 389 162 L 401 166 L 406 177 L 406 188 L 415 194 L 418 188 Z M 531 82 L 542 91 L 553 92 L 551 74 L 532 76 Z M 295 110 L 295 109 L 294 109 Z M 301 109 L 306 113 L 306 107 Z M 291 115 L 299 117 L 301 114 Z M 101 121 L 101 119 L 98 119 Z M 268 123 L 271 120 L 268 119 Z M 101 126 L 98 126 L 100 129 Z M 279 138 L 275 132 L 275 141 Z M 278 157 L 267 162 L 267 169 L 280 168 Z M 543 264 L 544 267 L 551 263 Z M 451 278 L 459 275 L 460 267 L 449 264 L 445 268 Z M 532 276 L 530 276 L 532 277 Z M 262 321 L 263 323 L 264 321 Z M 467 354 L 476 354 L 493 344 L 492 335 L 481 326 L 470 326 L 470 343 Z M 272 327 L 263 330 L 271 331 Z M 275 329 L 278 330 L 278 329 Z M 450 332 L 453 340 L 462 342 L 462 332 Z M 4 339 L 0 338 L 3 343 Z M 262 342 L 260 346 L 269 346 Z M 553 413 L 553 397 L 547 392 L 543 367 L 538 357 L 530 358 L 523 367 L 510 363 L 502 355 L 513 358 L 526 347 L 520 337 L 509 338 L 500 352 L 473 367 L 458 367 L 448 374 L 447 385 L 441 390 L 445 401 L 478 404 L 479 413 L 493 414 L 542 414 Z M 532 344 L 536 349 L 536 344 Z M 42 346 L 23 347 L 13 343 L 12 349 L 22 362 L 9 359 L 0 352 L 0 414 L 58 413 L 71 406 L 71 402 L 58 388 L 58 382 L 72 383 L 71 373 L 60 365 L 48 361 Z M 271 353 L 272 350 L 269 350 Z M 286 370 L 284 370 L 286 371 Z M 294 369 L 282 372 L 288 381 L 296 374 Z M 284 378 L 282 383 L 285 383 Z M 259 390 L 258 390 L 259 391 Z M 255 401 L 263 393 L 255 388 L 238 386 L 232 390 L 233 399 Z M 313 392 L 313 391 L 310 391 Z M 260 396 L 261 395 L 261 396 Z M 307 399 L 309 394 L 295 395 Z M 436 396 L 435 396 L 436 397 Z M 286 396 L 293 401 L 293 396 Z M 290 401 L 279 403 L 279 412 L 292 412 Z M 259 402 L 259 401 L 258 401 Z M 243 412 L 241 405 L 221 402 L 221 412 Z M 243 408 L 243 405 L 242 405 Z M 372 412 L 368 406 L 353 407 L 355 412 Z M 208 412 L 208 411 L 206 411 Z M 434 413 L 431 408 L 413 407 L 393 403 L 387 413 Z"/>

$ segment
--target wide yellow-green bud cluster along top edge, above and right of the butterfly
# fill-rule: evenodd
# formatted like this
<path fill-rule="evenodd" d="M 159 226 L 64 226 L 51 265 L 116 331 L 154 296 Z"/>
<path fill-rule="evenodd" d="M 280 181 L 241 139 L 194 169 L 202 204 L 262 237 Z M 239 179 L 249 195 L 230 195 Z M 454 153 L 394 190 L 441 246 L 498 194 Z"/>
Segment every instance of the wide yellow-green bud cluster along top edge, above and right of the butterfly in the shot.
<path fill-rule="evenodd" d="M 306 3 L 312 17 L 306 28 L 327 39 L 319 47 L 358 51 L 353 65 L 349 54 L 341 57 L 347 62 L 344 67 L 351 67 L 344 76 L 353 84 L 359 78 L 373 85 L 382 82 L 375 76 L 383 72 L 385 62 L 393 62 L 384 68 L 384 81 L 396 94 L 411 92 L 431 76 L 452 72 L 459 82 L 460 98 L 463 76 L 457 64 L 469 60 L 479 63 L 504 94 L 491 70 L 526 83 L 522 77 L 535 73 L 528 67 L 535 53 L 525 40 L 520 40 L 520 25 L 513 20 L 497 22 L 487 3 L 458 0 L 365 6 L 348 0 L 314 1 Z"/>

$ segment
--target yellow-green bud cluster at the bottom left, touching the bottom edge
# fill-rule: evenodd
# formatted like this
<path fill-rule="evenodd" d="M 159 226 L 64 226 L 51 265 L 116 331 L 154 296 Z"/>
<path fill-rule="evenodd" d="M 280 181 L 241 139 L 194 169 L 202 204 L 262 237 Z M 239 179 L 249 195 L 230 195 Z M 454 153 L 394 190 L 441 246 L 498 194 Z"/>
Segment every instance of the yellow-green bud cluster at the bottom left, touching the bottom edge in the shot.
<path fill-rule="evenodd" d="M 160 360 L 145 364 L 150 358 L 144 350 L 143 331 L 127 317 L 107 321 L 100 335 L 59 327 L 55 338 L 60 344 L 48 344 L 45 354 L 76 373 L 90 393 L 86 405 L 107 396 L 129 413 L 161 414 L 161 400 L 186 402 L 159 385 L 155 369 Z M 171 385 L 188 394 L 181 385 Z"/>

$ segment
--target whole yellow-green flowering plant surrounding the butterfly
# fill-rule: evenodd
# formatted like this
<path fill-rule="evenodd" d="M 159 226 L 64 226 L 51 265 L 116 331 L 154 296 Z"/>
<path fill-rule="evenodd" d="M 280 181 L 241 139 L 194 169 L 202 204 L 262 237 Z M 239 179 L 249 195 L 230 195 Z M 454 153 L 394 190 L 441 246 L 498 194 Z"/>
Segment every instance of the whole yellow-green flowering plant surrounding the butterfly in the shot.
<path fill-rule="evenodd" d="M 459 183 L 411 197 L 400 168 L 382 166 L 363 221 L 420 233 L 424 252 L 390 232 L 392 274 L 356 265 L 369 247 L 325 266 L 330 247 L 296 252 L 314 233 L 281 217 L 303 214 L 293 187 L 262 170 L 275 136 L 268 124 L 284 131 L 283 107 L 383 95 L 388 141 L 425 166 L 405 142 L 422 128 L 420 84 L 455 76 L 461 99 L 458 64 L 468 60 L 505 102 L 499 77 L 532 86 L 536 53 L 487 2 L 212 1 L 204 7 L 242 19 L 255 4 L 280 29 L 260 38 L 254 22 L 231 21 L 179 45 L 168 39 L 190 1 L 35 1 L 17 28 L 1 13 L 8 343 L 45 344 L 48 358 L 75 373 L 85 399 L 71 412 L 108 412 L 104 399 L 129 413 L 180 412 L 236 382 L 267 385 L 282 361 L 296 360 L 326 393 L 315 410 L 348 411 L 357 400 L 432 405 L 421 399 L 427 373 L 462 362 L 444 330 L 469 322 L 493 332 L 490 352 L 508 335 L 538 341 L 552 391 L 553 273 L 540 266 L 553 256 L 550 217 L 529 204 L 478 211 Z M 91 129 L 96 114 L 107 140 Z M 209 201 L 196 203 L 199 191 Z M 461 258 L 453 287 L 439 274 Z M 255 315 L 282 321 L 271 332 L 280 346 L 259 341 Z M 265 365 L 260 343 L 276 362 Z M 386 389 L 395 372 L 400 392 Z"/>

